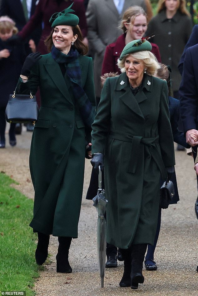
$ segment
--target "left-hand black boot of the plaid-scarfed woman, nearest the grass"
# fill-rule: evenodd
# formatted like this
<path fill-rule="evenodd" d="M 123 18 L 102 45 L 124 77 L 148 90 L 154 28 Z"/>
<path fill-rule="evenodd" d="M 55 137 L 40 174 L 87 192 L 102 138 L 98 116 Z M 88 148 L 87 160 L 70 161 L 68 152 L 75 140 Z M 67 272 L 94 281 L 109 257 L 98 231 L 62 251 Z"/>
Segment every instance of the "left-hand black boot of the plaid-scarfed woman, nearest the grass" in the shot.
<path fill-rule="evenodd" d="M 38 265 L 42 265 L 48 256 L 49 235 L 38 232 L 38 243 L 35 251 L 35 258 Z"/>

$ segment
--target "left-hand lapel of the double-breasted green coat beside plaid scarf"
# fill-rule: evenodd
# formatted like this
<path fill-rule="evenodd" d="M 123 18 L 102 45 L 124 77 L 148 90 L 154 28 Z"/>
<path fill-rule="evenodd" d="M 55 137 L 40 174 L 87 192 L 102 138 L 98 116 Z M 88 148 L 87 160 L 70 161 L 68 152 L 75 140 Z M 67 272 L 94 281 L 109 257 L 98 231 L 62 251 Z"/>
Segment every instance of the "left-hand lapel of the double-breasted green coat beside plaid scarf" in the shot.
<path fill-rule="evenodd" d="M 67 89 L 66 82 L 64 80 L 64 77 L 61 73 L 61 69 L 59 65 L 54 61 L 51 55 L 49 55 L 47 59 L 47 63 L 44 64 L 45 69 L 47 70 L 48 75 L 53 80 L 53 82 L 56 84 L 58 90 L 64 95 L 64 97 L 71 103 L 72 99 L 69 94 L 69 91 Z"/>

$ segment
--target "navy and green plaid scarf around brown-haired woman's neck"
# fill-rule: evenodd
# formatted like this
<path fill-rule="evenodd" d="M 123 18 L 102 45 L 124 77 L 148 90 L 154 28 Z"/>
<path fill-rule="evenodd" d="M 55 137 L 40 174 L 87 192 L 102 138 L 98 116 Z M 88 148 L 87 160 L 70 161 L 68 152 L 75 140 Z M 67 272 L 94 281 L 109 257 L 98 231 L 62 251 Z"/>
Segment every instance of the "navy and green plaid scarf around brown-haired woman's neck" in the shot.
<path fill-rule="evenodd" d="M 84 123 L 91 127 L 96 115 L 86 93 L 82 88 L 79 52 L 71 47 L 67 55 L 52 46 L 52 57 L 58 64 L 65 64 L 67 76 L 70 79 L 75 99 Z"/>

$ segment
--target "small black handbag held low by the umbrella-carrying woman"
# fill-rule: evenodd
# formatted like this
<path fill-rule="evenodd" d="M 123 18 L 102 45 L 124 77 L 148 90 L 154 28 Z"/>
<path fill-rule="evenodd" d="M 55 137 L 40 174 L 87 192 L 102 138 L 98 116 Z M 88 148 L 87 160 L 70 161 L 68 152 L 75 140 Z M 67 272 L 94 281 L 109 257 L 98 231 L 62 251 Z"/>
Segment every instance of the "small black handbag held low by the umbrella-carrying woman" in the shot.
<path fill-rule="evenodd" d="M 172 181 L 166 179 L 160 188 L 160 207 L 167 209 L 173 197 L 175 196 L 175 188 Z"/>

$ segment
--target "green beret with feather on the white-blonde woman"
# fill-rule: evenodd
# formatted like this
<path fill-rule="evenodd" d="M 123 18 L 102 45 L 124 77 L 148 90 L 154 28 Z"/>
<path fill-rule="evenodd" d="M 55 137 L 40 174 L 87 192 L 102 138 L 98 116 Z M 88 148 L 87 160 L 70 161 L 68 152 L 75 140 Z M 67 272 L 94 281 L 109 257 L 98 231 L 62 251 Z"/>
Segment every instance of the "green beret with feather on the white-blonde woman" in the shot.
<path fill-rule="evenodd" d="M 151 43 L 146 39 L 133 40 L 128 44 L 126 44 L 126 46 L 123 48 L 119 59 L 122 60 L 124 56 L 127 56 L 136 51 L 144 51 L 144 50 L 151 51 L 151 49 L 152 49 Z"/>

